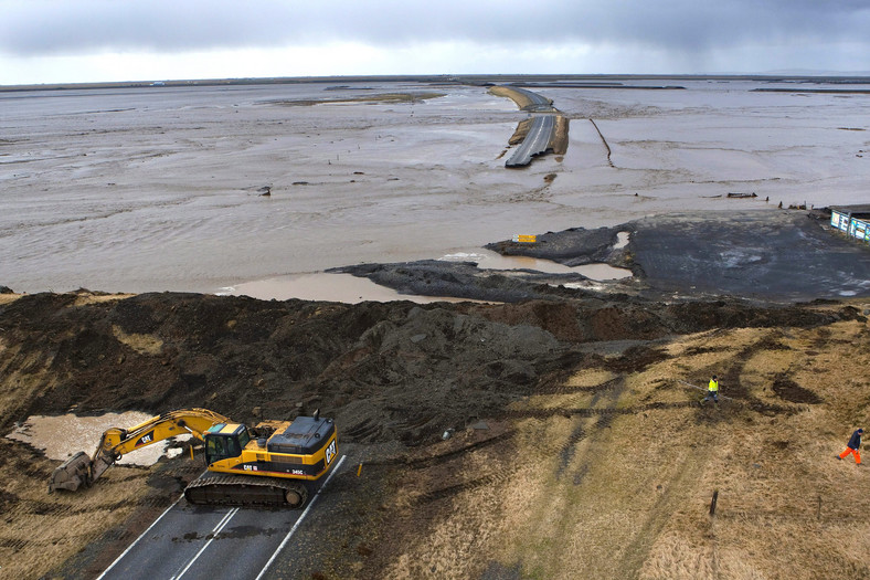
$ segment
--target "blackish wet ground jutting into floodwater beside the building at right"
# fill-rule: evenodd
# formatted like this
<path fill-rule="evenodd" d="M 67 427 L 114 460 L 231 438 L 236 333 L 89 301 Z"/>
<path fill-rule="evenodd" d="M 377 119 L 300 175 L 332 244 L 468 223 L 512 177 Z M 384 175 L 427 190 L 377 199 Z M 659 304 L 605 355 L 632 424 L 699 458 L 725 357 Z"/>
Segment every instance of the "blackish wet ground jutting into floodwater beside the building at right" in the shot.
<path fill-rule="evenodd" d="M 823 229 L 829 214 L 744 211 L 656 215 L 614 228 L 572 228 L 538 234 L 538 243 L 500 241 L 505 255 L 553 260 L 569 266 L 629 267 L 626 287 L 644 296 L 734 295 L 767 300 L 870 296 L 870 254 Z M 629 232 L 617 249 L 617 233 Z"/>

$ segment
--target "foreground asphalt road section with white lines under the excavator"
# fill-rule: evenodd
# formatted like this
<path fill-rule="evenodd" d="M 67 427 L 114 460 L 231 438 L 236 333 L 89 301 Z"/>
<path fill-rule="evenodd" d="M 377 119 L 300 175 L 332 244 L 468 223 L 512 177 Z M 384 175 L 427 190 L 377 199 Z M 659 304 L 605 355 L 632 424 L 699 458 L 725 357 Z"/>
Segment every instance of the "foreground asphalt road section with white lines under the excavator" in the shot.
<path fill-rule="evenodd" d="M 337 474 L 346 456 L 328 477 Z M 306 529 L 328 517 L 320 491 L 299 509 L 192 506 L 183 498 L 167 509 L 98 580 L 268 579 L 284 576 L 273 563 L 297 549 Z M 315 506 L 317 508 L 315 509 Z M 299 534 L 297 534 L 299 532 Z M 284 567 L 286 569 L 286 566 Z"/>

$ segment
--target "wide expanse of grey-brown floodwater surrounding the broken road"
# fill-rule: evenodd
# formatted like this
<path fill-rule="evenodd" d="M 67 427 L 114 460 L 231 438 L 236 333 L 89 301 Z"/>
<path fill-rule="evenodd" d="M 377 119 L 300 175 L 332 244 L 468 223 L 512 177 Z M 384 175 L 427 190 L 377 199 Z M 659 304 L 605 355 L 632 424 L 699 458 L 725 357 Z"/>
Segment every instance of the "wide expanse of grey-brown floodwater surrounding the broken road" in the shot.
<path fill-rule="evenodd" d="M 319 273 L 460 254 L 492 263 L 481 247 L 517 233 L 670 211 L 867 201 L 870 95 L 752 89 L 868 85 L 651 83 L 686 89 L 535 89 L 571 117 L 570 146 L 526 169 L 502 155 L 526 114 L 484 87 L 0 93 L 0 284 L 244 293 L 273 281 L 258 297 L 289 297 L 275 282 L 286 278 L 309 288 L 298 297 L 347 285 L 348 298 L 381 289 Z M 433 89 L 445 96 L 280 103 Z"/>

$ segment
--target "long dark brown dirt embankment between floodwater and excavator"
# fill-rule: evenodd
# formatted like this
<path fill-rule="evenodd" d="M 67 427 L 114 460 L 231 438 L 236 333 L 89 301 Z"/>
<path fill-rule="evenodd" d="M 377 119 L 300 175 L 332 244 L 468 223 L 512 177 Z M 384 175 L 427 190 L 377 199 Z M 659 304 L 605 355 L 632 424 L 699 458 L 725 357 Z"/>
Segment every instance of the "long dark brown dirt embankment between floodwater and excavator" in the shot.
<path fill-rule="evenodd" d="M 0 365 L 17 389 L 31 389 L 3 401 L 4 429 L 73 408 L 159 413 L 195 405 L 250 420 L 256 407 L 286 416 L 301 402 L 341 416 L 350 433 L 378 424 L 368 441 L 417 441 L 529 394 L 576 359 L 572 345 L 860 315 L 738 300 L 420 306 L 194 294 L 82 303 L 38 294 L 0 307 Z"/>

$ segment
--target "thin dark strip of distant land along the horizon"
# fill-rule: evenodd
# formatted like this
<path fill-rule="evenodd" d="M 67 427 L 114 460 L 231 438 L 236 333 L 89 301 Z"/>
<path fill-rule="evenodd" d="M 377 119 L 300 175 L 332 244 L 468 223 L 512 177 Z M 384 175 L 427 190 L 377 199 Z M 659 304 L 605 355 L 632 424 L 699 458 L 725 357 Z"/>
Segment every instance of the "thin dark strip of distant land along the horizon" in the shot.
<path fill-rule="evenodd" d="M 526 84 L 526 83 L 555 83 L 563 82 L 595 82 L 607 81 L 758 81 L 782 83 L 813 83 L 813 84 L 864 84 L 870 83 L 870 76 L 859 75 L 777 75 L 777 74 L 467 74 L 467 75 L 373 75 L 373 76 L 282 76 L 262 78 L 200 78 L 200 80 L 149 80 L 149 81 L 121 81 L 105 83 L 56 83 L 56 84 L 29 84 L 29 85 L 0 85 L 0 93 L 23 91 L 75 91 L 93 88 L 166 88 L 182 86 L 244 86 L 244 85 L 275 85 L 275 84 L 325 84 L 325 83 L 426 83 L 426 84 L 461 84 L 461 85 L 492 85 L 492 84 Z M 602 85 L 601 88 L 625 88 L 623 86 Z M 831 89 L 834 91 L 834 89 Z"/>

